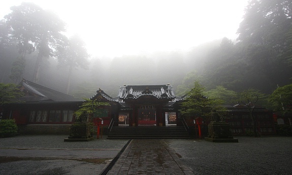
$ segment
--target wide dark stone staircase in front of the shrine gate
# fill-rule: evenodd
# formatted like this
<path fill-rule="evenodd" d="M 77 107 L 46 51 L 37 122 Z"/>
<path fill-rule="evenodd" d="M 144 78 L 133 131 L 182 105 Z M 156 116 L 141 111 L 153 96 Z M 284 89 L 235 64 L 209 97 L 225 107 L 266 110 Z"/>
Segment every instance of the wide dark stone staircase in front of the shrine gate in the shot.
<path fill-rule="evenodd" d="M 112 127 L 108 139 L 177 138 L 188 139 L 189 133 L 180 126 Z"/>

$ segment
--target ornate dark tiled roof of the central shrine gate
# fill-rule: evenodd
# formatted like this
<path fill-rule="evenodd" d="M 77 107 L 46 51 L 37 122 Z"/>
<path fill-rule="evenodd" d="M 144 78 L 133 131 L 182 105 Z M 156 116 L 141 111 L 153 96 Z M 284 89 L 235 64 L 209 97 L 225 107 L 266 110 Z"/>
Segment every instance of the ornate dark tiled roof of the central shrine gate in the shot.
<path fill-rule="evenodd" d="M 120 99 L 136 99 L 141 96 L 154 96 L 159 99 L 175 99 L 170 85 L 124 85 L 119 89 Z"/>

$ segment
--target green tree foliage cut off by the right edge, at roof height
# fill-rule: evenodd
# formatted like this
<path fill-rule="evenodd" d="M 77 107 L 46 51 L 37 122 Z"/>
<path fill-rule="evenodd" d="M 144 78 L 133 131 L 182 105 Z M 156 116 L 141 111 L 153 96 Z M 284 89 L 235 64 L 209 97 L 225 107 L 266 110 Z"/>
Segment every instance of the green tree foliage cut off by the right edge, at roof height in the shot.
<path fill-rule="evenodd" d="M 272 95 L 269 96 L 269 101 L 273 104 L 275 111 L 291 113 L 292 109 L 292 84 L 278 87 Z"/>

